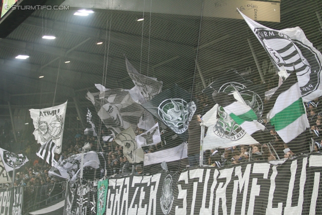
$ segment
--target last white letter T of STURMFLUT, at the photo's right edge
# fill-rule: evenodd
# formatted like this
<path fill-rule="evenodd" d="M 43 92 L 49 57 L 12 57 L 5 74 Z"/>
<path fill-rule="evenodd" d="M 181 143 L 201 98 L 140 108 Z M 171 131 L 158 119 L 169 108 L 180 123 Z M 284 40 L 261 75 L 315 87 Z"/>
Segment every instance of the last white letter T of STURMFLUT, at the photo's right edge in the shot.
<path fill-rule="evenodd" d="M 309 163 L 309 167 L 322 167 L 322 156 L 311 155 L 308 163 Z M 315 214 L 319 183 L 320 183 L 320 173 L 315 172 L 309 215 Z"/>

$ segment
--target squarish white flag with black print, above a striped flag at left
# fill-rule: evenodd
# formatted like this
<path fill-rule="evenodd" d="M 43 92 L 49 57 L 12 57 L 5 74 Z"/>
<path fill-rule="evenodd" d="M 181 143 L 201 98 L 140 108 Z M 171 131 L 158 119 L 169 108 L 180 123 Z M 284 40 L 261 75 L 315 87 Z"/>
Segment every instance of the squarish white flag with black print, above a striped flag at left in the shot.
<path fill-rule="evenodd" d="M 52 140 L 57 154 L 61 153 L 66 107 L 67 102 L 50 108 L 29 110 L 35 127 L 33 134 L 38 144 L 43 146 Z"/>

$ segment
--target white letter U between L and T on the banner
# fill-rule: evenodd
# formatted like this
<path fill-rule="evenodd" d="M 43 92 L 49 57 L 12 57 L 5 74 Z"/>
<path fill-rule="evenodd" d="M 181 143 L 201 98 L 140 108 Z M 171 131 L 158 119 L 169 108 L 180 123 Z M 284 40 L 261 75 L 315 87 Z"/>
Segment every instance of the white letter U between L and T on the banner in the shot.
<path fill-rule="evenodd" d="M 304 185 L 306 180 L 306 164 L 307 164 L 307 158 L 303 158 L 298 202 L 297 202 L 297 206 L 293 206 L 293 207 L 292 207 L 292 194 L 293 194 L 295 175 L 296 175 L 296 169 L 297 169 L 297 160 L 293 161 L 291 164 L 291 179 L 288 185 L 286 206 L 284 208 L 285 215 L 302 214 L 302 207 L 303 207 L 303 201 L 304 201 Z"/>

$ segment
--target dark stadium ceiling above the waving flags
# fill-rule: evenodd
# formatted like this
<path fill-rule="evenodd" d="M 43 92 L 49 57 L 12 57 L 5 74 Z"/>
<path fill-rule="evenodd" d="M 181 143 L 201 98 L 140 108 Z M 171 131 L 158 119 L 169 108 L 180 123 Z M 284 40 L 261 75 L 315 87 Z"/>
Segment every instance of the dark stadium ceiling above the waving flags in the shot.
<path fill-rule="evenodd" d="M 318 2 L 282 1 L 281 23 L 261 24 L 274 29 L 300 26 L 321 50 Z M 189 7 L 195 6 L 185 5 Z M 86 110 L 91 104 L 85 95 L 88 90 L 97 91 L 94 84 L 134 87 L 124 55 L 141 74 L 163 81 L 164 89 L 178 84 L 187 91 L 193 83 L 203 81 L 203 87 L 232 67 L 240 73 L 250 69 L 258 76 L 247 39 L 261 63 L 268 59 L 244 20 L 202 17 L 202 8 L 198 9 L 200 16 L 106 8 L 94 8 L 95 13 L 86 17 L 74 16 L 79 9 L 37 10 L 0 39 L 0 118 L 9 116 L 9 104 L 12 108 L 45 108 L 68 100 Z M 136 21 L 143 16 L 143 22 Z M 47 33 L 56 39 L 42 39 Z M 97 45 L 99 41 L 103 44 Z M 30 57 L 15 59 L 21 53 Z"/>

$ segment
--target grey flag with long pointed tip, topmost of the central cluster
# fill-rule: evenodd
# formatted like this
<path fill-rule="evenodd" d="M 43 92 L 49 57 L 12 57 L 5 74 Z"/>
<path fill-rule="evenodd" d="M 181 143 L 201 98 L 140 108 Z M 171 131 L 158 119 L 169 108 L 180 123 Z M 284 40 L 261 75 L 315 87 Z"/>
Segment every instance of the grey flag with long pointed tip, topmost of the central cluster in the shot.
<path fill-rule="evenodd" d="M 150 101 L 154 96 L 162 92 L 162 82 L 157 81 L 156 78 L 139 74 L 127 58 L 125 58 L 125 63 L 129 76 L 146 101 Z"/>

